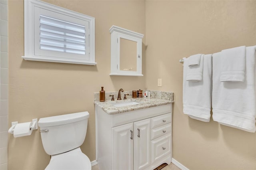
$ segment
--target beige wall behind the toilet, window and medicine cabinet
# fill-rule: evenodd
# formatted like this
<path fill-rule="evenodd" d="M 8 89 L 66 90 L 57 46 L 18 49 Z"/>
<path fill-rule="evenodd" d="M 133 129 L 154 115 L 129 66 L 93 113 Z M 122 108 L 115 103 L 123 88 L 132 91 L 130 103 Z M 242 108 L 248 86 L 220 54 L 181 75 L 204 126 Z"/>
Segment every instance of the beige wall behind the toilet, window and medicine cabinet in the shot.
<path fill-rule="evenodd" d="M 23 0 L 9 1 L 9 127 L 12 121 L 88 111 L 90 118 L 82 151 L 95 160 L 93 92 L 145 89 L 145 77 L 109 76 L 112 25 L 145 34 L 144 1 L 47 1 L 95 17 L 96 66 L 25 61 Z M 145 42 L 145 38 L 143 39 Z M 143 49 L 144 55 L 145 48 Z M 143 70 L 144 71 L 144 70 Z M 134 83 L 136 82 L 136 83 Z M 9 135 L 8 169 L 42 170 L 49 163 L 39 130 L 31 136 Z"/>

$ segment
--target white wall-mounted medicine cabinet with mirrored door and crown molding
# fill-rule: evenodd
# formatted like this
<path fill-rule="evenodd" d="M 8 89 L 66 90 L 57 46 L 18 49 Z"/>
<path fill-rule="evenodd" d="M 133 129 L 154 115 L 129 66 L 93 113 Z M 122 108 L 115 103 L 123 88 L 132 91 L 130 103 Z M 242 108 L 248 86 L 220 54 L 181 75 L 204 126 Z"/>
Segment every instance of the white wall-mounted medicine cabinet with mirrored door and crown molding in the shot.
<path fill-rule="evenodd" d="M 111 73 L 110 75 L 142 75 L 143 34 L 118 26 L 110 28 Z"/>

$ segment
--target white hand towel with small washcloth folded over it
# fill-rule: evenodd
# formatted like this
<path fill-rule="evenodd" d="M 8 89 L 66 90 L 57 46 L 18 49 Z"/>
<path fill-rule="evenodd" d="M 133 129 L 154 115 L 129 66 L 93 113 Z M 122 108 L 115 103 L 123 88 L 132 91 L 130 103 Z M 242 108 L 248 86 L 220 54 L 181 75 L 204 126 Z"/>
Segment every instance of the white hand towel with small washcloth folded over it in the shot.
<path fill-rule="evenodd" d="M 186 59 L 188 60 L 188 59 Z M 188 63 L 188 62 L 187 62 Z M 192 67 L 188 67 L 186 74 L 186 81 L 202 81 L 202 73 L 203 73 L 203 65 L 204 65 L 204 54 L 200 56 L 200 64 Z"/>

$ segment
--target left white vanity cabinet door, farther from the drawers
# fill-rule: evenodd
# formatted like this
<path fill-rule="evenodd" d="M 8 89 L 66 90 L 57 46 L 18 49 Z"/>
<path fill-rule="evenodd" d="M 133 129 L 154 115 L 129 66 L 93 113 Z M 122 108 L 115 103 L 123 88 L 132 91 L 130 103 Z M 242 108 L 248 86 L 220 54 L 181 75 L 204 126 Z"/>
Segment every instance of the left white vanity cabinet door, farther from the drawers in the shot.
<path fill-rule="evenodd" d="M 133 170 L 133 123 L 112 128 L 112 170 Z"/>

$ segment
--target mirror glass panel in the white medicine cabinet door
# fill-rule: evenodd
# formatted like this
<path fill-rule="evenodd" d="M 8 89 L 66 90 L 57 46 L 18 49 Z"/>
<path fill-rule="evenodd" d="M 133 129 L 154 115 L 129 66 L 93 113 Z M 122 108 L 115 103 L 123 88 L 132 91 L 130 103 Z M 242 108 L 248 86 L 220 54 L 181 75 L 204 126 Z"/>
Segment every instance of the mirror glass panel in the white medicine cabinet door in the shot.
<path fill-rule="evenodd" d="M 120 70 L 137 71 L 137 42 L 120 38 Z"/>

